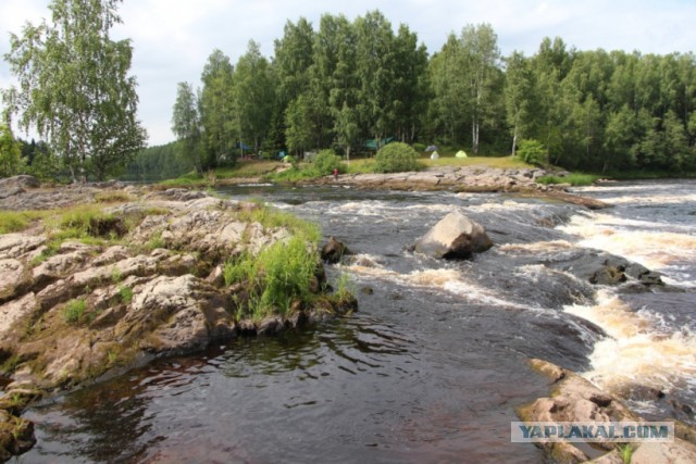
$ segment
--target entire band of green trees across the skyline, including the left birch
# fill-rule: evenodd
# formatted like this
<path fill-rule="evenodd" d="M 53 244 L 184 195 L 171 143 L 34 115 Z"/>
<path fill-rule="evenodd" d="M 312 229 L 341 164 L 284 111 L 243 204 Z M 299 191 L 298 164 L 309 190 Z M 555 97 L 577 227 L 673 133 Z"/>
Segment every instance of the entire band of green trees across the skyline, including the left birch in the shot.
<path fill-rule="evenodd" d="M 579 51 L 546 38 L 531 57 L 504 57 L 481 24 L 451 33 L 431 54 L 380 11 L 353 21 L 325 14 L 316 27 L 288 21 L 272 58 L 254 41 L 235 63 L 213 50 L 199 86 L 177 85 L 176 143 L 128 165 L 146 134 L 127 74 L 133 48 L 109 36 L 120 2 L 53 0 L 52 24 L 11 36 L 4 58 L 21 85 L 3 92 L 7 117 L 17 114 L 48 142 L 37 172 L 58 163 L 73 179 L 102 178 L 127 166 L 152 178 L 248 153 L 333 148 L 350 156 L 390 139 L 482 155 L 533 142 L 533 161 L 571 170 L 696 170 L 694 53 Z M 17 159 L 11 125 L 0 135 L 2 174 L 32 168 L 36 150 Z"/>

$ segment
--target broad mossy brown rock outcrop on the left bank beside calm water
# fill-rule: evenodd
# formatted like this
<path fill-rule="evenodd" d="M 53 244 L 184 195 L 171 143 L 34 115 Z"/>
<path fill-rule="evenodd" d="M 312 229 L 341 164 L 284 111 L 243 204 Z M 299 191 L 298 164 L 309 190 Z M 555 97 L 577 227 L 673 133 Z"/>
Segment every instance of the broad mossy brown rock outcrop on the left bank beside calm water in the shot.
<path fill-rule="evenodd" d="M 257 255 L 291 233 L 249 217 L 253 203 L 198 191 L 128 188 L 103 204 L 110 220 L 90 223 L 89 240 L 57 237 L 51 222 L 0 235 L 0 461 L 30 448 L 23 410 L 52 392 L 79 388 L 160 356 L 192 353 L 240 335 L 274 334 L 345 314 L 356 300 L 324 293 L 320 260 L 313 297 L 279 315 L 251 318 L 248 285 L 225 281 L 225 263 Z M 98 198 L 103 189 L 18 192 L 8 203 Z M 38 196 L 38 197 L 37 197 Z M 23 202 L 23 200 L 26 200 Z M 89 201 L 89 200 L 88 200 Z M 3 203 L 3 208 L 5 204 Z"/>

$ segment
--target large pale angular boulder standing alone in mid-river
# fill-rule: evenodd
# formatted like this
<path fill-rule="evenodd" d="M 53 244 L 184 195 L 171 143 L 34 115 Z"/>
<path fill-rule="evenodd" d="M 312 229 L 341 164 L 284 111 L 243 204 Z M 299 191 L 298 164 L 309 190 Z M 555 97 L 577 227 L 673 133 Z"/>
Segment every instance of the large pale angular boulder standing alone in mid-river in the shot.
<path fill-rule="evenodd" d="M 493 242 L 483 226 L 456 211 L 418 240 L 414 250 L 434 258 L 465 259 L 490 247 Z"/>

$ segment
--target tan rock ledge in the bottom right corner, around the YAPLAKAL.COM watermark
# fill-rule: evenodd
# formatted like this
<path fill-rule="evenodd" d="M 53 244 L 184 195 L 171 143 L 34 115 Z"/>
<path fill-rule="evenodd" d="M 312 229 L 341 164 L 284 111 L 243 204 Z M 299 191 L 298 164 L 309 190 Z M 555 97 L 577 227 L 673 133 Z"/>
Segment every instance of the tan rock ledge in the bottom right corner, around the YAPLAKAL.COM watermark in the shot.
<path fill-rule="evenodd" d="M 530 360 L 533 369 L 549 380 L 550 396 L 518 409 L 518 415 L 525 423 L 532 422 L 646 422 L 632 412 L 616 396 L 595 387 L 577 374 L 543 360 Z M 633 448 L 632 464 L 688 464 L 696 462 L 696 430 L 679 421 L 674 422 L 675 438 L 673 442 L 643 442 L 629 444 Z M 552 462 L 559 463 L 595 463 L 623 464 L 620 443 L 592 443 L 592 459 L 587 452 L 571 442 L 536 443 Z"/>

